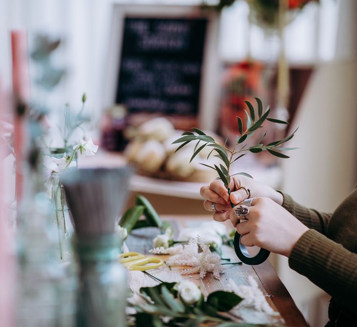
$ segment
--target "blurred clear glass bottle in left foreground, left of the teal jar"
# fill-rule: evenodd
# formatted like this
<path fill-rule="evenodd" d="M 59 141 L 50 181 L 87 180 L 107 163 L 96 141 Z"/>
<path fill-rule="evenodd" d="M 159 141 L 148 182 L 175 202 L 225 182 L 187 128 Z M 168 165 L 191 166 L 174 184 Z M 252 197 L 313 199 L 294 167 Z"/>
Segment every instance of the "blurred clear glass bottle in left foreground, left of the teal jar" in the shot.
<path fill-rule="evenodd" d="M 17 214 L 17 326 L 74 326 L 76 272 L 59 262 L 50 201 L 36 169 L 26 174 L 23 194 Z"/>

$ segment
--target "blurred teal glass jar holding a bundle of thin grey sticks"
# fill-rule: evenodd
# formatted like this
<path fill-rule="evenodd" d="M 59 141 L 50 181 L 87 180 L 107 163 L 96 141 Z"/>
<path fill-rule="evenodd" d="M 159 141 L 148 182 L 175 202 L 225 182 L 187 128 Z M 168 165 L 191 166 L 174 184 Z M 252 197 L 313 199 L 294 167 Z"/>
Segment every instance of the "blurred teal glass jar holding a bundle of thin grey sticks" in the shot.
<path fill-rule="evenodd" d="M 73 237 L 79 268 L 77 327 L 124 327 L 127 279 L 118 235 Z"/>

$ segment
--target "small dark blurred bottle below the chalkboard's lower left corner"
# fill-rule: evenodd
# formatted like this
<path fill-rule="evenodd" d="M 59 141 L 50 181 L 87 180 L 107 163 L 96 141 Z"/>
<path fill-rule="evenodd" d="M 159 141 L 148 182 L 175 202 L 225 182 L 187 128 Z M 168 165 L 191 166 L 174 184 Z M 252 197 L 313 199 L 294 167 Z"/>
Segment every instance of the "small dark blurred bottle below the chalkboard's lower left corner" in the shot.
<path fill-rule="evenodd" d="M 127 145 L 125 139 L 127 109 L 124 105 L 109 108 L 101 122 L 101 146 L 108 151 L 123 151 Z"/>

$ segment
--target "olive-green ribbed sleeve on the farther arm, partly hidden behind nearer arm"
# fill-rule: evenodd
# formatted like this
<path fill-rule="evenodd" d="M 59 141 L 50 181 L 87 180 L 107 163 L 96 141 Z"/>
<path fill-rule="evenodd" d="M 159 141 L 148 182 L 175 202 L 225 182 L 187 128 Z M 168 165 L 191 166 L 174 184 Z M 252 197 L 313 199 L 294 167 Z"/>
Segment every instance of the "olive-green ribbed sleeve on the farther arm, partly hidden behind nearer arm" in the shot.
<path fill-rule="evenodd" d="M 327 224 L 332 216 L 331 213 L 320 212 L 314 209 L 309 209 L 294 200 L 281 191 L 278 191 L 284 197 L 283 207 L 289 211 L 294 217 L 299 219 L 305 226 L 315 229 L 326 235 Z"/>

